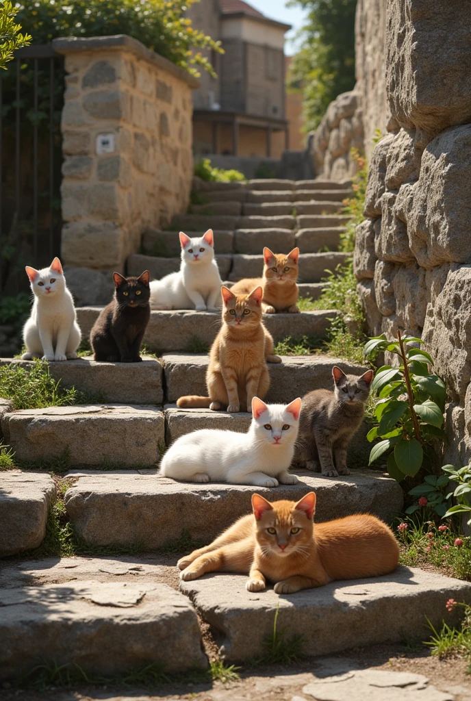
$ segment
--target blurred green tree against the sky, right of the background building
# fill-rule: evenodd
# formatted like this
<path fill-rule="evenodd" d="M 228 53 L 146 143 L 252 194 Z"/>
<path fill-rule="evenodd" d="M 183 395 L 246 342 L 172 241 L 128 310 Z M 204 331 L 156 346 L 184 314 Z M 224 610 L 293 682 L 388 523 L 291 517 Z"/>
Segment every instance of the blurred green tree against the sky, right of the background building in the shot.
<path fill-rule="evenodd" d="M 301 49 L 291 64 L 290 90 L 303 93 L 306 131 L 318 127 L 337 95 L 355 86 L 356 0 L 290 0 L 308 10 Z"/>

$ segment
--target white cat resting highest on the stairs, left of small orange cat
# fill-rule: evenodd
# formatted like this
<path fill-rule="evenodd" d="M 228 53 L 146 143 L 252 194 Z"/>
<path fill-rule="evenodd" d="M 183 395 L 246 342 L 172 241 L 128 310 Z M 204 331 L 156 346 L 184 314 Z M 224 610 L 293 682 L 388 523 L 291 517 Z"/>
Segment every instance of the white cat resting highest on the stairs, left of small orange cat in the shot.
<path fill-rule="evenodd" d="M 221 306 L 221 276 L 214 260 L 214 236 L 208 229 L 201 238 L 180 231 L 182 264 L 178 273 L 152 280 L 152 309 L 216 311 Z"/>

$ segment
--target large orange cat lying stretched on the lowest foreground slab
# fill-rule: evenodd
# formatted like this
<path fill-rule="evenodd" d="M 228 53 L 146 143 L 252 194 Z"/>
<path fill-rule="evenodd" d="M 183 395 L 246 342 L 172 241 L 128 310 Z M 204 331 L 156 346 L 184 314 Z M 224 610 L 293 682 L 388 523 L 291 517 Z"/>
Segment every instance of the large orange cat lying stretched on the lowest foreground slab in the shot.
<path fill-rule="evenodd" d="M 395 570 L 399 547 L 376 516 L 357 514 L 313 524 L 315 494 L 297 503 L 252 496 L 254 514 L 243 516 L 207 547 L 182 557 L 180 578 L 207 572 L 249 574 L 249 592 L 275 583 L 277 594 L 322 587 L 332 580 L 378 577 Z M 255 518 L 254 518 L 255 517 Z"/>

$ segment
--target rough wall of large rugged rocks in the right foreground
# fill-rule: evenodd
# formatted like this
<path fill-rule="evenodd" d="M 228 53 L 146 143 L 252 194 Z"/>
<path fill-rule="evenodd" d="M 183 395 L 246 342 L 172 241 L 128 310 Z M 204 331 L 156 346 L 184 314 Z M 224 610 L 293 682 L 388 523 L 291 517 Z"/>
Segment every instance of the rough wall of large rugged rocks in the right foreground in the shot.
<path fill-rule="evenodd" d="M 371 331 L 422 336 L 446 382 L 446 459 L 471 458 L 471 13 L 388 0 L 389 132 L 373 151 L 354 267 Z"/>

